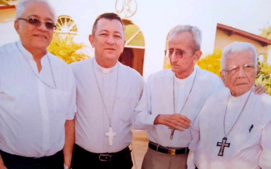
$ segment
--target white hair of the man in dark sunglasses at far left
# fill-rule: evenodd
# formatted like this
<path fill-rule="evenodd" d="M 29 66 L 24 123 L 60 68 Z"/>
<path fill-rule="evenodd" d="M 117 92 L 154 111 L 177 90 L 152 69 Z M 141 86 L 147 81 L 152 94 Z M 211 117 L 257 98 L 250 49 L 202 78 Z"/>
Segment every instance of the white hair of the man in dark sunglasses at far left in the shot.
<path fill-rule="evenodd" d="M 20 0 L 16 7 L 16 19 L 19 19 L 22 17 L 23 13 L 25 12 L 26 4 L 29 2 L 42 2 L 45 3 L 50 11 L 53 13 L 53 20 L 56 22 L 56 13 L 54 7 L 49 3 L 47 0 Z"/>

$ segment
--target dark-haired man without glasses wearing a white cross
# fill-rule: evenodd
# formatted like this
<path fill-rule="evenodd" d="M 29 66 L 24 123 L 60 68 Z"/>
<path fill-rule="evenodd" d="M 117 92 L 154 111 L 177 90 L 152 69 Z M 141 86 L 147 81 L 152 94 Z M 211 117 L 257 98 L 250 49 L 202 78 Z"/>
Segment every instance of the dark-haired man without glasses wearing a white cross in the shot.
<path fill-rule="evenodd" d="M 98 16 L 89 40 L 95 57 L 71 64 L 77 86 L 72 168 L 132 168 L 131 119 L 143 78 L 118 62 L 125 45 L 118 15 Z"/>

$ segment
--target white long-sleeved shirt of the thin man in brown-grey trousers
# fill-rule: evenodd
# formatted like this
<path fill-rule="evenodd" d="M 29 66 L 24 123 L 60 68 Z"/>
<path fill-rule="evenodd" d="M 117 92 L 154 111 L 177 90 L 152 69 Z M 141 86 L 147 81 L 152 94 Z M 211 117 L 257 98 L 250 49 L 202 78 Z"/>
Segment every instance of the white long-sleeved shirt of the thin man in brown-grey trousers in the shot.
<path fill-rule="evenodd" d="M 196 79 L 189 94 L 194 77 Z M 175 108 L 173 78 L 175 78 Z M 165 125 L 153 125 L 154 119 L 159 114 L 180 113 L 183 108 L 181 115 L 186 116 L 193 123 L 205 99 L 223 87 L 217 75 L 198 67 L 195 67 L 193 73 L 185 79 L 177 79 L 171 70 L 154 73 L 149 76 L 144 87 L 143 95 L 132 118 L 132 125 L 134 129 L 146 129 L 149 140 L 164 147 L 188 147 L 192 139 L 190 129 L 175 130 L 173 139 L 170 140 L 171 129 Z M 184 105 L 188 94 L 189 98 Z"/>

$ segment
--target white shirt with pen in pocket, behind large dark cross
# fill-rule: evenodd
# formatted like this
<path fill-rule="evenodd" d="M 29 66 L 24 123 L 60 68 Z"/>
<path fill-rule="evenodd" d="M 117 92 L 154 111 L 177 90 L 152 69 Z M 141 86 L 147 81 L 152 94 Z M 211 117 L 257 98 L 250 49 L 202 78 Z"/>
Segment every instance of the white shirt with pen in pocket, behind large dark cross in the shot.
<path fill-rule="evenodd" d="M 251 92 L 240 114 L 249 92 L 234 98 L 226 88 L 207 98 L 191 128 L 188 169 L 195 165 L 200 169 L 271 168 L 271 97 Z M 218 156 L 221 147 L 217 143 L 225 137 L 228 97 L 225 133 L 230 145 L 224 148 L 223 156 Z"/>

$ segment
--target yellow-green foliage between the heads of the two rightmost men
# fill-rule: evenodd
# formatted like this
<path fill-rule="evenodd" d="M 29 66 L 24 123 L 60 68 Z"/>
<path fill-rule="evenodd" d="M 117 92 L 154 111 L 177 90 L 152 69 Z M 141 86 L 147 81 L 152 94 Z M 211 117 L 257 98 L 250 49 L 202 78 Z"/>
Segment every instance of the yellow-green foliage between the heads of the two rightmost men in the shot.
<path fill-rule="evenodd" d="M 216 48 L 212 54 L 206 55 L 205 57 L 201 58 L 197 61 L 197 65 L 201 69 L 205 69 L 207 71 L 215 73 L 219 76 L 220 71 L 220 59 L 221 59 L 222 50 Z"/>

